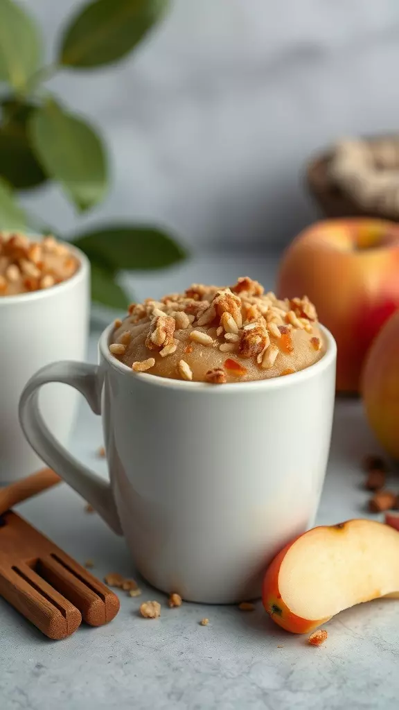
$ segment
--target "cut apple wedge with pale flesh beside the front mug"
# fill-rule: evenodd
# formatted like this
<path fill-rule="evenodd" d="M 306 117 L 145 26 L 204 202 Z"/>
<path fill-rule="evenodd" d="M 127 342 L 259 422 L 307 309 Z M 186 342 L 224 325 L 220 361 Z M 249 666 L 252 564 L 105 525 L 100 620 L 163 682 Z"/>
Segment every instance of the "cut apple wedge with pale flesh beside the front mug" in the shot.
<path fill-rule="evenodd" d="M 399 596 L 399 532 L 373 520 L 308 530 L 273 559 L 263 606 L 275 623 L 309 633 L 343 609 Z"/>

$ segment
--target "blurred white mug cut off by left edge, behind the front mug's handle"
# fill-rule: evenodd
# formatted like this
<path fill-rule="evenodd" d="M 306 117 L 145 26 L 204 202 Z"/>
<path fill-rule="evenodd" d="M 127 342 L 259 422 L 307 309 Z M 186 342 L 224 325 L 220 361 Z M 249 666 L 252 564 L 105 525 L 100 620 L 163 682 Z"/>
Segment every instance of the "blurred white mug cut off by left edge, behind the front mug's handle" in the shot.
<path fill-rule="evenodd" d="M 28 379 L 54 360 L 82 360 L 87 354 L 89 262 L 82 251 L 70 249 L 80 261 L 72 278 L 51 288 L 0 297 L 0 486 L 43 465 L 18 421 L 18 402 Z M 75 393 L 53 385 L 43 392 L 40 405 L 51 431 L 66 442 Z"/>

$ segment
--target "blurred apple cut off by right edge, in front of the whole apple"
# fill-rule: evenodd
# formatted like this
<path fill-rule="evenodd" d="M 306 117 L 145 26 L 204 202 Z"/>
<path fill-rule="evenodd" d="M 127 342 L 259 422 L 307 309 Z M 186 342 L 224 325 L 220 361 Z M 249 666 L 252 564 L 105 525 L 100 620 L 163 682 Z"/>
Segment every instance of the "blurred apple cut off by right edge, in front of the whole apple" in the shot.
<path fill-rule="evenodd" d="M 371 345 L 361 392 L 371 429 L 388 454 L 399 459 L 399 310 Z"/>

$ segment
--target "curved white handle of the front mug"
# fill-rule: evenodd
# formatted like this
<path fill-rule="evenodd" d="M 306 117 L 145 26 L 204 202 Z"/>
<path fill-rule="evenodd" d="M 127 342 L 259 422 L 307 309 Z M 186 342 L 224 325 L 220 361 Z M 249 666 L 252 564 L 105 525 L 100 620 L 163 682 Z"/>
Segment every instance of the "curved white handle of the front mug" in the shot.
<path fill-rule="evenodd" d="M 99 367 L 84 362 L 62 361 L 42 367 L 28 381 L 19 400 L 19 421 L 36 454 L 54 469 L 67 484 L 104 518 L 109 527 L 122 535 L 109 481 L 80 464 L 48 429 L 39 407 L 39 390 L 50 382 L 75 387 L 89 403 L 94 414 L 101 414 L 102 378 Z"/>

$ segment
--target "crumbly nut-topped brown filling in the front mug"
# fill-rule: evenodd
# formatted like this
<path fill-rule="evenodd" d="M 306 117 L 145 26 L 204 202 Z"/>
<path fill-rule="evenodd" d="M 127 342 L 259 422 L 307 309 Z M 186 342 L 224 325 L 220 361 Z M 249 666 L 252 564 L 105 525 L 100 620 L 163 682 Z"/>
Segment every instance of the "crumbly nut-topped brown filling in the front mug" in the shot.
<path fill-rule="evenodd" d="M 224 384 L 295 373 L 325 347 L 306 296 L 280 300 L 246 276 L 131 304 L 109 349 L 136 372 Z"/>

